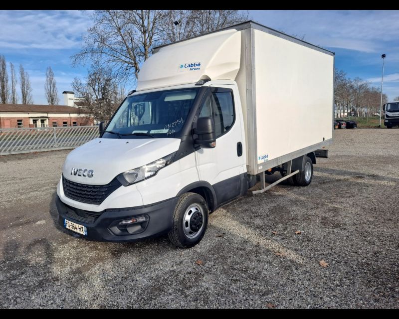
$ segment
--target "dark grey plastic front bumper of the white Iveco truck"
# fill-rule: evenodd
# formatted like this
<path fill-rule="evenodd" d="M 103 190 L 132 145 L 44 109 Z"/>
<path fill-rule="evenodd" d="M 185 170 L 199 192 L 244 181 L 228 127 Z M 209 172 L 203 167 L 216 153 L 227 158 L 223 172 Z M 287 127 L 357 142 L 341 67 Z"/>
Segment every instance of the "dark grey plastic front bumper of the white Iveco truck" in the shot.
<path fill-rule="evenodd" d="M 106 209 L 102 212 L 83 211 L 64 204 L 56 197 L 58 223 L 64 227 L 64 219 L 86 226 L 87 235 L 82 237 L 112 242 L 138 241 L 145 238 L 157 237 L 172 229 L 173 213 L 178 197 L 141 207 Z M 149 220 L 134 233 L 119 229 L 117 224 L 131 217 L 148 216 Z M 137 225 L 139 226 L 139 225 Z M 71 233 L 74 233 L 71 231 Z M 77 234 L 77 233 L 74 233 Z"/>

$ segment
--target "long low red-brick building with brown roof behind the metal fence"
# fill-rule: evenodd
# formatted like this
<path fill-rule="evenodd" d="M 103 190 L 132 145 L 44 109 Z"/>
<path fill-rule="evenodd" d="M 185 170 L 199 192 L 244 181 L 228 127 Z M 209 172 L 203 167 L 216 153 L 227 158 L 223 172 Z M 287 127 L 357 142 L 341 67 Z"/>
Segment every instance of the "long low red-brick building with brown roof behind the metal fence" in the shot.
<path fill-rule="evenodd" d="M 94 121 L 82 109 L 65 105 L 0 104 L 0 129 L 89 126 Z"/>

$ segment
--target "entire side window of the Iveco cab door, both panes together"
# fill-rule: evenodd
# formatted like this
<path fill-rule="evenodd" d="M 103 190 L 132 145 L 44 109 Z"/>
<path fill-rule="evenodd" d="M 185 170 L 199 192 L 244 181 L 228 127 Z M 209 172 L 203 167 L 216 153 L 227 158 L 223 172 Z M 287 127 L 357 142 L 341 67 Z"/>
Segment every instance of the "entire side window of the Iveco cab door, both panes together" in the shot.
<path fill-rule="evenodd" d="M 213 92 L 209 94 L 202 104 L 199 117 L 213 117 L 216 138 L 230 130 L 235 119 L 232 92 Z"/>

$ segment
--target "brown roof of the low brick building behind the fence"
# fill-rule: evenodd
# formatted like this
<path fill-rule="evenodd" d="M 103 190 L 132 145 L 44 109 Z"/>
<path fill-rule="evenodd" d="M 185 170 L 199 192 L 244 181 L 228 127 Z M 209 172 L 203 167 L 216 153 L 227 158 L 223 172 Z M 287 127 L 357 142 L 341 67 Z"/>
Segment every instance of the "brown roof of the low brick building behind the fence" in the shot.
<path fill-rule="evenodd" d="M 0 104 L 0 113 L 89 113 L 66 105 Z"/>

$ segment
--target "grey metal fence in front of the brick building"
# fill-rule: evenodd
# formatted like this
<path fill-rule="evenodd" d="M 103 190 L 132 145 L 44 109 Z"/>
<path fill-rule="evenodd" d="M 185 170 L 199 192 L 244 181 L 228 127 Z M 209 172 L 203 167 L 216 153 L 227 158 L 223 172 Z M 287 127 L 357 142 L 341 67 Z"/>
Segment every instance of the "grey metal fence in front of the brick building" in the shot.
<path fill-rule="evenodd" d="M 0 155 L 73 149 L 98 135 L 98 126 L 0 129 Z"/>

